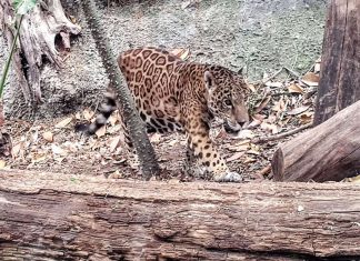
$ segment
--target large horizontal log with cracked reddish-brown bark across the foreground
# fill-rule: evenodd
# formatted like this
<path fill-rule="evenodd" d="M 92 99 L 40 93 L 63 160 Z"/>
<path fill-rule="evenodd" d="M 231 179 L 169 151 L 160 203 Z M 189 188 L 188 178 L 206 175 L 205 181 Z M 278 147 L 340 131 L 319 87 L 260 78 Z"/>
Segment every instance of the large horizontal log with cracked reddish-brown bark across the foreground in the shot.
<path fill-rule="evenodd" d="M 360 187 L 0 170 L 3 260 L 351 260 Z"/>

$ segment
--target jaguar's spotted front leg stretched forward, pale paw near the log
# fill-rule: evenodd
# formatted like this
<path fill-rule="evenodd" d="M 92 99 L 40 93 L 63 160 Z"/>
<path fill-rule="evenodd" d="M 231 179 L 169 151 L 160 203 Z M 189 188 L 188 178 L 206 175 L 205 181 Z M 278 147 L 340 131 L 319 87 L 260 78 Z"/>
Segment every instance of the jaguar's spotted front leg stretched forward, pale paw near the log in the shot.
<path fill-rule="evenodd" d="M 197 127 L 197 128 L 191 128 Z M 216 150 L 210 137 L 209 127 L 206 122 L 190 124 L 187 130 L 189 135 L 189 147 L 193 151 L 198 162 L 201 163 L 216 181 L 236 181 L 242 180 L 242 177 L 237 172 L 231 172 L 221 157 Z"/>

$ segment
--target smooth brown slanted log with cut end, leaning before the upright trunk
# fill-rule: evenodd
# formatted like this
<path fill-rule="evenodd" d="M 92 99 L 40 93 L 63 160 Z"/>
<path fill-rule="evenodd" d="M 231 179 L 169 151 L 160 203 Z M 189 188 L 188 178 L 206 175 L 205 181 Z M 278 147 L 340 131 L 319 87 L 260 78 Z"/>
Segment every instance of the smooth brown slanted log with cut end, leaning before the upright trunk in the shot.
<path fill-rule="evenodd" d="M 277 181 L 340 181 L 360 170 L 360 101 L 281 144 L 272 158 Z"/>

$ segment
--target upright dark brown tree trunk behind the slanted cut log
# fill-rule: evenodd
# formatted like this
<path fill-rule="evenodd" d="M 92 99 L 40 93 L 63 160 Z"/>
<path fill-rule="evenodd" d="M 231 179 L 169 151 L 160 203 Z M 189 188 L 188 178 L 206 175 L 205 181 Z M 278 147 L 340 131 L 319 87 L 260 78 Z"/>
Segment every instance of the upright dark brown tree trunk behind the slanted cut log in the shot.
<path fill-rule="evenodd" d="M 360 1 L 332 0 L 323 40 L 314 124 L 360 100 Z"/>

